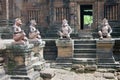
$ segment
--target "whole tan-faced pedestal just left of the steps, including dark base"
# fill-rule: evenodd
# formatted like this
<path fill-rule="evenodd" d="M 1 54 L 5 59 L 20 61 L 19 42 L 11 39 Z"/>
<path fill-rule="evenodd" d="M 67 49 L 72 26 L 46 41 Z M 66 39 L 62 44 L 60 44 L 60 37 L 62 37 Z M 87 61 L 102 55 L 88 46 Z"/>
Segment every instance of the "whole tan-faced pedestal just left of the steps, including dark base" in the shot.
<path fill-rule="evenodd" d="M 57 62 L 72 63 L 74 41 L 67 39 L 56 40 L 56 46 L 58 49 Z"/>

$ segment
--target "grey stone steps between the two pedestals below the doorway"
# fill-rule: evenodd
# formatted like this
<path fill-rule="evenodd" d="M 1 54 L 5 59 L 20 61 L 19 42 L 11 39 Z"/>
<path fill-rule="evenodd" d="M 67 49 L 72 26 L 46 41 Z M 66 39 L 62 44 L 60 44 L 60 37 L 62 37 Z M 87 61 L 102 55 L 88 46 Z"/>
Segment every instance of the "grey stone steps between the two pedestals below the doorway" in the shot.
<path fill-rule="evenodd" d="M 74 41 L 74 64 L 96 64 L 96 41 L 75 40 Z"/>

